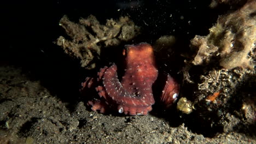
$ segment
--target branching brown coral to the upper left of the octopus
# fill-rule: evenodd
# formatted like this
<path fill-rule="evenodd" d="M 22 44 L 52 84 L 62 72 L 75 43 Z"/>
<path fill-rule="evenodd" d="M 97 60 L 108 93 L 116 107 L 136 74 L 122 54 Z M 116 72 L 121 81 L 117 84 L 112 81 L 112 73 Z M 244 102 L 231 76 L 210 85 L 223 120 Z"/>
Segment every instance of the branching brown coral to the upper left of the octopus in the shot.
<path fill-rule="evenodd" d="M 92 15 L 87 19 L 81 18 L 79 23 L 69 21 L 67 16 L 63 16 L 60 26 L 66 30 L 69 38 L 60 36 L 56 44 L 68 55 L 79 58 L 82 67 L 87 69 L 95 67 L 93 60 L 101 56 L 102 47 L 118 45 L 121 41 L 131 40 L 139 33 L 139 27 L 129 17 L 110 19 L 106 25 L 101 25 Z"/>

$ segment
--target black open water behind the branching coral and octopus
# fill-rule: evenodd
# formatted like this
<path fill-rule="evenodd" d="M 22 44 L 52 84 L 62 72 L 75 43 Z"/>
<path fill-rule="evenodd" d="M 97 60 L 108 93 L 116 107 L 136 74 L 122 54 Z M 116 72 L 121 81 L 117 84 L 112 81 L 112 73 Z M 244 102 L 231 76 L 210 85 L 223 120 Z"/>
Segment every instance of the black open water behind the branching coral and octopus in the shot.
<path fill-rule="evenodd" d="M 207 35 L 208 28 L 225 11 L 210 9 L 211 1 L 10 1 L 1 2 L 0 64 L 21 67 L 33 80 L 39 80 L 63 100 L 76 101 L 86 70 L 79 59 L 67 56 L 55 45 L 65 35 L 59 20 L 67 15 L 77 22 L 80 17 L 95 15 L 106 19 L 130 16 L 143 27 L 143 42 L 153 43 L 161 35 L 182 39 L 182 51 L 189 49 L 194 35 Z M 172 16 L 171 16 L 172 15 Z M 181 16 L 184 19 L 181 19 Z M 65 90 L 64 90 L 65 89 Z"/>

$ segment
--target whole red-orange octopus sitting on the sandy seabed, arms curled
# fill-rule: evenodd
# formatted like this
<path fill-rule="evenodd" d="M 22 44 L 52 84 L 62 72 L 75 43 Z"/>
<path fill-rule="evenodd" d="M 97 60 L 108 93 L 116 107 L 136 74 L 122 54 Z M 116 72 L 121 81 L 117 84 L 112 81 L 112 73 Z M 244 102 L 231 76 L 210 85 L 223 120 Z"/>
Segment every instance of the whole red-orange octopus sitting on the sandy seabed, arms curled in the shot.
<path fill-rule="evenodd" d="M 87 105 L 92 111 L 147 115 L 155 103 L 152 86 L 158 79 L 153 47 L 147 43 L 126 45 L 123 55 L 123 76 L 118 76 L 119 68 L 113 63 L 101 68 L 96 77 L 86 77 L 80 91 L 89 99 Z M 164 79 L 164 88 L 158 97 L 170 107 L 178 97 L 179 85 L 169 74 L 165 74 Z"/>

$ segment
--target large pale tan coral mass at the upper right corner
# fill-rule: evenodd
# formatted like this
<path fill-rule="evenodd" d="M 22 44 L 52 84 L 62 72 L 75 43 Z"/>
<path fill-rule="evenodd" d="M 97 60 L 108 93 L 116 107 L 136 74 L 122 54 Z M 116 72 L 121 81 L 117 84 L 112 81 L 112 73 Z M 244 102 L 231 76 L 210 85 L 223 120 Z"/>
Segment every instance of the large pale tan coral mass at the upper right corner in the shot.
<path fill-rule="evenodd" d="M 220 16 L 207 36 L 196 35 L 191 40 L 191 47 L 197 50 L 197 54 L 191 63 L 207 65 L 218 59 L 219 65 L 225 69 L 253 68 L 255 64 L 248 55 L 254 55 L 255 10 L 256 2 L 249 2 L 234 13 Z"/>

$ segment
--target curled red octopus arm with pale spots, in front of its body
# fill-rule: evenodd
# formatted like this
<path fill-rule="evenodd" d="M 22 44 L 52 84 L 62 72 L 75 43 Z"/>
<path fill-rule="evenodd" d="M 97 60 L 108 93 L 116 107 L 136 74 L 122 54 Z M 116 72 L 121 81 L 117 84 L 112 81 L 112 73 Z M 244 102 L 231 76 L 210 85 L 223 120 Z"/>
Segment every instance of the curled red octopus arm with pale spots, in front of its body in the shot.
<path fill-rule="evenodd" d="M 130 115 L 147 115 L 154 104 L 152 94 L 134 95 L 126 91 L 118 80 L 117 65 L 113 64 L 106 69 L 103 76 L 103 87 L 107 97 L 118 105 L 119 113 L 129 112 Z M 108 99 L 107 98 L 107 99 Z"/>

